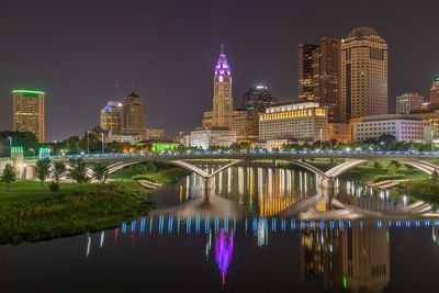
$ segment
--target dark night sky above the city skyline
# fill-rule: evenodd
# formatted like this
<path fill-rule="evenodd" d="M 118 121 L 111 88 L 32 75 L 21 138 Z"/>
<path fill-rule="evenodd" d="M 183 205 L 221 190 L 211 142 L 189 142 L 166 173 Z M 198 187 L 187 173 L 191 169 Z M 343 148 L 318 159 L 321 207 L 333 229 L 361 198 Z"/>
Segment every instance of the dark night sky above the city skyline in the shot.
<path fill-rule="evenodd" d="M 297 45 L 372 26 L 389 44 L 389 98 L 429 98 L 439 72 L 439 1 L 0 0 L 0 129 L 12 129 L 14 88 L 46 92 L 46 138 L 99 125 L 108 100 L 132 89 L 147 127 L 201 126 L 225 44 L 235 105 L 255 83 L 297 99 Z"/>

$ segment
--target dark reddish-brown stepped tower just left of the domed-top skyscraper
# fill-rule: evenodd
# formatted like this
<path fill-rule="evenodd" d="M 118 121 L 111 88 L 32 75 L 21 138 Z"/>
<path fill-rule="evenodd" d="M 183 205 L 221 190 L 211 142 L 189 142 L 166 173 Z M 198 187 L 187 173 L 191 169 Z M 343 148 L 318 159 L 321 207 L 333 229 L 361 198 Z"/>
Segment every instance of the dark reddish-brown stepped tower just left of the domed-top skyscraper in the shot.
<path fill-rule="evenodd" d="M 340 121 L 340 48 L 339 38 L 327 36 L 299 45 L 299 99 L 327 106 L 329 122 Z"/>

